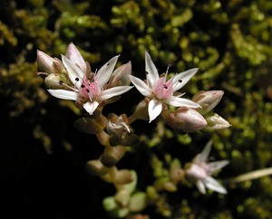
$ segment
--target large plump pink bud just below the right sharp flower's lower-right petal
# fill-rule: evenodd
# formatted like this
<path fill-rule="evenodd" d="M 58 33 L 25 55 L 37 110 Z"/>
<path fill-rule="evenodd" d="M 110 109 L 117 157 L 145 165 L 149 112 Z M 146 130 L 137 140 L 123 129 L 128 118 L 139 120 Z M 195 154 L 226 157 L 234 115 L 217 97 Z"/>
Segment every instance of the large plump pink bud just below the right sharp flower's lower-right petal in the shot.
<path fill-rule="evenodd" d="M 207 121 L 196 109 L 180 107 L 164 115 L 166 122 L 177 132 L 193 132 L 207 126 Z"/>

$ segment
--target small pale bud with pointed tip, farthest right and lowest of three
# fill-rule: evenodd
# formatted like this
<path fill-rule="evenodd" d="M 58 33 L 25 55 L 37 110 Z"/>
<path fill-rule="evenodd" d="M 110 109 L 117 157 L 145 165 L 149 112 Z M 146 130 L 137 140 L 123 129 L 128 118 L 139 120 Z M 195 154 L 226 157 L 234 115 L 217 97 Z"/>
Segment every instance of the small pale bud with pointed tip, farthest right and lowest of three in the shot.
<path fill-rule="evenodd" d="M 212 113 L 206 118 L 206 120 L 208 122 L 208 126 L 205 128 L 205 130 L 208 131 L 226 129 L 231 126 L 226 119 L 223 119 L 217 113 Z"/>

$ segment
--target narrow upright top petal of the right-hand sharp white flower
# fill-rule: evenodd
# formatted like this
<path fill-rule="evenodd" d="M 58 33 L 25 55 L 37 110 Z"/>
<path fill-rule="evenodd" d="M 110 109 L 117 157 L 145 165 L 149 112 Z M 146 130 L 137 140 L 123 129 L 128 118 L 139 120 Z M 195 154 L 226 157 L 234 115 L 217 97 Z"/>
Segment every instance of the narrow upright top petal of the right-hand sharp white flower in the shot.
<path fill-rule="evenodd" d="M 149 52 L 145 52 L 145 71 L 147 73 L 147 81 L 150 83 L 150 86 L 153 87 L 156 81 L 159 80 L 159 73 L 154 62 L 151 60 Z"/>

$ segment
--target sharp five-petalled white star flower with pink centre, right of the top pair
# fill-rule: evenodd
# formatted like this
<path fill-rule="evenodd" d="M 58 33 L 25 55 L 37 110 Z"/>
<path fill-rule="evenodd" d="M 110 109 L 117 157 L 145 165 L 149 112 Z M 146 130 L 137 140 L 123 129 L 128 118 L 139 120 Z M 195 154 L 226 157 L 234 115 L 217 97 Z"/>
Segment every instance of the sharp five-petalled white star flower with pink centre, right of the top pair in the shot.
<path fill-rule="evenodd" d="M 180 90 L 198 71 L 197 68 L 180 72 L 172 77 L 169 81 L 166 81 L 167 73 L 160 77 L 156 66 L 151 60 L 150 54 L 145 52 L 145 71 L 147 79 L 146 82 L 141 81 L 141 79 L 134 76 L 131 76 L 131 82 L 143 96 L 150 99 L 148 105 L 150 122 L 160 115 L 163 104 L 165 103 L 173 107 L 200 107 L 198 103 L 192 100 L 180 98 L 183 94 L 176 94 L 176 91 Z"/>

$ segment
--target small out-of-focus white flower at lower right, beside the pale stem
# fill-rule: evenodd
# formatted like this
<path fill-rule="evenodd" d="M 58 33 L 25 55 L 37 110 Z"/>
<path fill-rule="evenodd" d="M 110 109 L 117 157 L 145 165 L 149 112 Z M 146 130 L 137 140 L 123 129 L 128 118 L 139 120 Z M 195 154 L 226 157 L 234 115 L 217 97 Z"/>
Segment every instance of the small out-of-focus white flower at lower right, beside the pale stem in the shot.
<path fill-rule="evenodd" d="M 199 192 L 206 194 L 206 188 L 220 194 L 227 194 L 227 190 L 211 175 L 220 168 L 228 165 L 228 160 L 208 162 L 209 151 L 212 142 L 209 141 L 206 147 L 185 167 L 185 176 L 199 188 Z"/>

